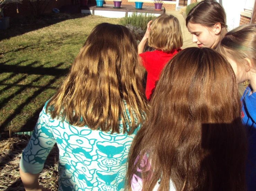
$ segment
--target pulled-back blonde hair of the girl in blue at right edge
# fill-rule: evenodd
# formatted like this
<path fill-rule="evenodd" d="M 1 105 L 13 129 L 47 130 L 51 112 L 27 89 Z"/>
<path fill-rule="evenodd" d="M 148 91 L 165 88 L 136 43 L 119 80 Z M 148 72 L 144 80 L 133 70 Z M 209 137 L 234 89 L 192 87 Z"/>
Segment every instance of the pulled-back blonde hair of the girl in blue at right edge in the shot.
<path fill-rule="evenodd" d="M 238 66 L 248 58 L 256 69 L 256 24 L 241 25 L 229 31 L 221 41 L 220 52 L 236 61 Z"/>

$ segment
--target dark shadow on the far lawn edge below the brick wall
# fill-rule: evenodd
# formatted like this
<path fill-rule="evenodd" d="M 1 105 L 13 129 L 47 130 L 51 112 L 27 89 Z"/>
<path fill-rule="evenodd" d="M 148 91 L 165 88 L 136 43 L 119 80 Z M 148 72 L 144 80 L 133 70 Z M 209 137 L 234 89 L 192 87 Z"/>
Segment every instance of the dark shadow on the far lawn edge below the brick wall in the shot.
<path fill-rule="evenodd" d="M 78 7 L 81 12 L 80 7 Z M 88 9 L 88 8 L 87 8 Z M 86 17 L 89 14 L 68 14 L 68 13 L 51 13 L 40 16 L 39 18 L 30 16 L 22 19 L 11 19 L 10 28 L 7 30 L 0 30 L 0 41 L 3 39 L 9 39 L 33 30 L 48 27 L 52 24 L 62 22 L 69 19 L 77 19 Z M 19 51 L 17 49 L 17 51 Z"/>

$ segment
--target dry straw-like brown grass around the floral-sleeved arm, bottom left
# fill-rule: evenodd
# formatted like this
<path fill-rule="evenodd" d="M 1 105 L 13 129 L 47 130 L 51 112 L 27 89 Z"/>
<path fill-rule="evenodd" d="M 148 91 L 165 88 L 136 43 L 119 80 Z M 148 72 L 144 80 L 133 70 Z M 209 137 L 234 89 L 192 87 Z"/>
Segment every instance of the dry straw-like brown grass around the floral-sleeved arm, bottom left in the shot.
<path fill-rule="evenodd" d="M 7 135 L 1 134 L 0 140 L 0 191 L 24 191 L 19 175 L 19 162 L 29 136 L 11 135 L 8 138 Z M 55 145 L 39 176 L 39 183 L 44 188 L 58 189 L 58 158 L 59 150 Z"/>

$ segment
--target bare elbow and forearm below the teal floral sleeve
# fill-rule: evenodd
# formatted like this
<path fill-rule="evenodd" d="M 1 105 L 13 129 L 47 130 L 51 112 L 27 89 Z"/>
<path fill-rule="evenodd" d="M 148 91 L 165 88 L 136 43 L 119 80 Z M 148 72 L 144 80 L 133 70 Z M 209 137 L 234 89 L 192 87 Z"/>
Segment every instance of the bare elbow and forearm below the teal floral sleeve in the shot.
<path fill-rule="evenodd" d="M 20 178 L 24 185 L 26 191 L 51 191 L 50 189 L 45 189 L 38 183 L 38 174 L 25 173 L 19 169 Z"/>

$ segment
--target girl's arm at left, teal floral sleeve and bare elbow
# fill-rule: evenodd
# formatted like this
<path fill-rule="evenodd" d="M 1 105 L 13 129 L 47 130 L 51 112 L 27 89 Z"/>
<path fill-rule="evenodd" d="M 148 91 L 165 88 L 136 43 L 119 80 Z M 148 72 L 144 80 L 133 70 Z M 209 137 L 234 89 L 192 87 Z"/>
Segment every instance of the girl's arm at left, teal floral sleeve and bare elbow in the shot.
<path fill-rule="evenodd" d="M 50 191 L 38 183 L 39 173 L 56 140 L 49 123 L 50 115 L 45 112 L 46 104 L 39 114 L 34 132 L 20 158 L 20 178 L 26 191 Z"/>

